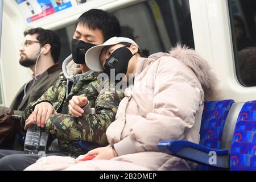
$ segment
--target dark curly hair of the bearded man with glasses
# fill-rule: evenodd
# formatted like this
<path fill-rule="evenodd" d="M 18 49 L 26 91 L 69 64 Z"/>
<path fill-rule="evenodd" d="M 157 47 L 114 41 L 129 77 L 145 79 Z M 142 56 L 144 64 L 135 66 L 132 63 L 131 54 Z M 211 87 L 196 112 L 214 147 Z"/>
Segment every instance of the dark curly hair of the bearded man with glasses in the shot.
<path fill-rule="evenodd" d="M 51 45 L 51 55 L 54 62 L 56 63 L 60 57 L 61 46 L 59 36 L 52 30 L 45 30 L 43 28 L 31 28 L 30 30 L 24 31 L 24 36 L 34 34 L 38 35 L 36 39 L 39 41 L 41 46 L 46 44 Z"/>

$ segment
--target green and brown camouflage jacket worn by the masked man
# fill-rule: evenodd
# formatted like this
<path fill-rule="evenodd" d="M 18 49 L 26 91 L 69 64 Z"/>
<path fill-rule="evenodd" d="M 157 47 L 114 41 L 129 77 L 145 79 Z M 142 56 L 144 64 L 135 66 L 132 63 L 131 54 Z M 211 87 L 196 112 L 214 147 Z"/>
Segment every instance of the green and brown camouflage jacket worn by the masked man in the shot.
<path fill-rule="evenodd" d="M 95 114 L 83 114 L 81 117 L 83 119 L 82 122 L 86 123 L 84 127 L 87 132 L 86 134 L 83 133 L 86 137 L 82 138 L 81 136 L 78 136 L 76 139 L 71 139 L 69 136 L 72 135 L 72 130 L 67 128 L 68 131 L 65 131 L 67 138 L 64 139 L 67 140 L 67 142 L 71 142 L 71 140 L 86 140 L 88 142 L 100 144 L 100 146 L 108 144 L 105 132 L 110 123 L 115 120 L 115 114 L 117 113 L 119 102 L 123 98 L 123 92 L 110 92 L 109 89 L 98 90 L 98 87 L 102 83 L 97 79 L 98 75 L 99 73 L 94 72 L 89 76 L 83 77 L 75 84 L 75 86 L 73 86 L 71 92 L 66 94 L 68 81 L 65 74 L 61 72 L 56 83 L 49 88 L 42 97 L 37 101 L 32 102 L 24 110 L 21 119 L 22 126 L 24 127 L 26 119 L 32 113 L 34 107 L 40 102 L 49 102 L 53 105 L 57 113 L 68 114 L 69 100 L 71 100 L 73 96 L 86 96 L 89 101 L 89 106 L 95 108 Z M 75 117 L 69 120 L 76 123 Z M 46 124 L 46 130 L 48 130 L 49 133 L 52 133 L 52 127 L 54 126 Z M 58 139 L 61 138 L 61 140 L 63 140 L 63 133 L 58 134 L 59 136 L 57 135 L 53 137 Z M 59 145 L 60 148 L 62 148 L 60 142 Z"/>

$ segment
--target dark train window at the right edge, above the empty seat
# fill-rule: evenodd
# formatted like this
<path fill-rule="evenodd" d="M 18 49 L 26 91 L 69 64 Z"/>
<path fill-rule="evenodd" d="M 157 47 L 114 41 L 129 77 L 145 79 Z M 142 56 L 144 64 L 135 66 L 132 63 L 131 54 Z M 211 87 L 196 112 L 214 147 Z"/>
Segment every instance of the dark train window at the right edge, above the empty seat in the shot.
<path fill-rule="evenodd" d="M 256 86 L 256 1 L 230 0 L 237 78 L 243 86 Z"/>

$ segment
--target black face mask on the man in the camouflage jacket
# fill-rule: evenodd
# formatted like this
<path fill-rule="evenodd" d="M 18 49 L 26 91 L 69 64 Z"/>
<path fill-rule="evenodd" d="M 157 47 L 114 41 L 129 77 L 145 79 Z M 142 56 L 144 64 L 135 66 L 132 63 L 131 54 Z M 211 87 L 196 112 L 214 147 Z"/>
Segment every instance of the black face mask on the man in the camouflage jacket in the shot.
<path fill-rule="evenodd" d="M 89 48 L 96 46 L 96 44 L 86 43 L 82 40 L 72 39 L 72 57 L 76 64 L 85 64 L 84 56 Z"/>

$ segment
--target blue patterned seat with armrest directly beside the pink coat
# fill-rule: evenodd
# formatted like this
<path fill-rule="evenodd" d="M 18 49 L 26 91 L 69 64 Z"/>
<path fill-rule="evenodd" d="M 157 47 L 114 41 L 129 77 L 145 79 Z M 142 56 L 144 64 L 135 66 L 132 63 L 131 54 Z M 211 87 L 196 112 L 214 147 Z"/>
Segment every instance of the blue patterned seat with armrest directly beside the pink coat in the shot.
<path fill-rule="evenodd" d="M 196 170 L 215 170 L 229 168 L 229 150 L 221 148 L 225 146 L 226 140 L 229 141 L 233 135 L 235 123 L 231 121 L 237 120 L 237 115 L 243 104 L 233 105 L 234 100 L 211 101 L 204 103 L 204 110 L 201 119 L 200 144 L 185 140 L 162 140 L 158 143 L 158 148 L 162 152 L 174 155 L 178 158 L 189 160 L 199 164 Z M 231 112 L 230 112 L 231 110 Z M 226 119 L 229 124 L 233 124 L 229 137 L 222 140 L 222 133 L 226 127 Z M 231 122 L 231 123 L 230 123 Z M 246 126 L 250 127 L 251 123 Z M 230 125 L 232 126 L 232 125 Z M 229 128 L 229 127 L 228 127 Z M 228 142 L 230 144 L 230 142 Z M 229 147 L 228 147 L 229 148 Z M 215 152 L 215 163 L 209 162 L 209 154 Z"/>

